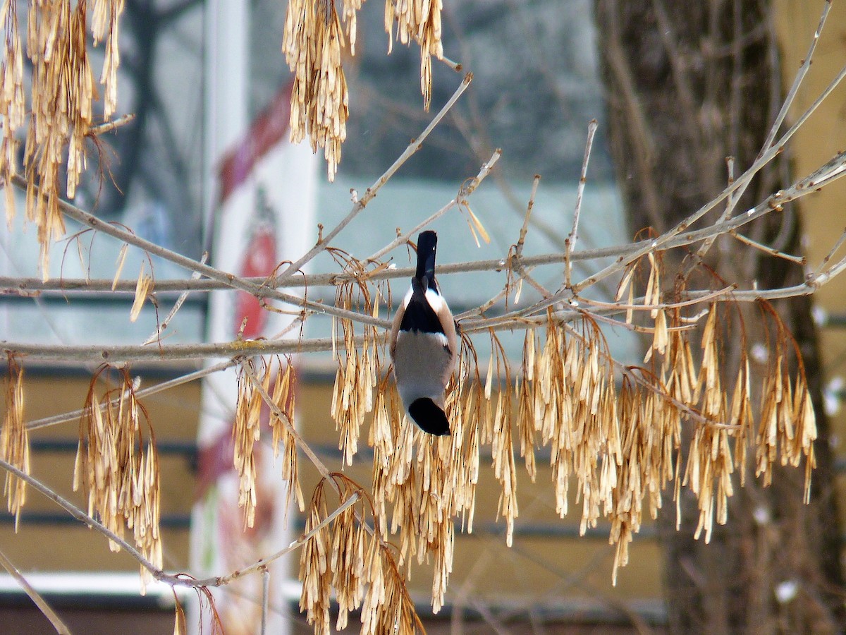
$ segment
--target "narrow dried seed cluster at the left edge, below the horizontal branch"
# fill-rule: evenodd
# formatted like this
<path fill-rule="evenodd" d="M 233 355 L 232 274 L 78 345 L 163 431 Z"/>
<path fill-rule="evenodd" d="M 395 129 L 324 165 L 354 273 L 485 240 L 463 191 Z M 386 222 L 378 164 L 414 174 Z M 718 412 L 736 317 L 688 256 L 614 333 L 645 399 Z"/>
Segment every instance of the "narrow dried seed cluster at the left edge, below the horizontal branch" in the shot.
<path fill-rule="evenodd" d="M 0 457 L 21 472 L 30 473 L 30 435 L 24 421 L 24 369 L 9 358 L 6 377 L 6 417 L 0 428 Z M 20 511 L 26 502 L 26 483 L 14 474 L 6 474 L 3 486 L 8 511 L 14 514 L 14 530 L 18 531 Z"/>

